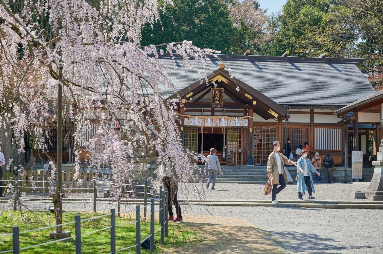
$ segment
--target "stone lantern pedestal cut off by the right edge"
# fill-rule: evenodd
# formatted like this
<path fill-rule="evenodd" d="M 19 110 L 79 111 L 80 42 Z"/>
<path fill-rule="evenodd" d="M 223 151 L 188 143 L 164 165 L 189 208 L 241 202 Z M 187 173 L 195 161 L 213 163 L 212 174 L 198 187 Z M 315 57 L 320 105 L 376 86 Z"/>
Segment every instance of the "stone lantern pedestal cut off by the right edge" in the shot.
<path fill-rule="evenodd" d="M 376 162 L 372 162 L 372 165 L 375 166 L 374 175 L 365 191 L 365 195 L 368 199 L 383 201 L 383 139 L 376 155 Z"/>

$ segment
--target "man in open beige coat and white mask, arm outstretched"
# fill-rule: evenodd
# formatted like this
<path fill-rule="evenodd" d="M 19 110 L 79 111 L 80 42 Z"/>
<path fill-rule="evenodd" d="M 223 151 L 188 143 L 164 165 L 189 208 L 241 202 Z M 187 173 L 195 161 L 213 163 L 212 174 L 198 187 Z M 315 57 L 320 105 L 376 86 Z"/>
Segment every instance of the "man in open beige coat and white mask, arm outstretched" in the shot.
<path fill-rule="evenodd" d="M 286 182 L 288 181 L 285 164 L 296 165 L 296 162 L 289 160 L 285 155 L 279 152 L 281 145 L 278 141 L 273 142 L 273 148 L 273 152 L 268 155 L 267 159 L 267 176 L 270 177 L 271 183 L 273 184 L 271 202 L 278 204 L 277 194 L 286 187 Z M 278 184 L 281 186 L 278 187 Z"/>

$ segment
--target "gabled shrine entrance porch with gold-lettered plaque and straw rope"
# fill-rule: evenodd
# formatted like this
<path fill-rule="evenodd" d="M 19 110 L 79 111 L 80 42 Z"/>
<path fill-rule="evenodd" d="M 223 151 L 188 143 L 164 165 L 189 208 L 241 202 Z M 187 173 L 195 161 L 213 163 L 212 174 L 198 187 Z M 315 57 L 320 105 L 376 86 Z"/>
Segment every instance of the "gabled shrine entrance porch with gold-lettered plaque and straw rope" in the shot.
<path fill-rule="evenodd" d="M 290 112 L 232 77 L 224 67 L 219 64 L 206 77 L 208 84 L 197 81 L 167 98 L 180 99 L 178 126 L 183 145 L 205 156 L 214 147 L 223 165 L 253 165 L 253 159 L 263 163 L 263 154 L 256 151 L 254 155 L 253 113 L 264 120 L 283 121 Z M 266 130 L 260 135 L 262 141 L 273 138 Z"/>

